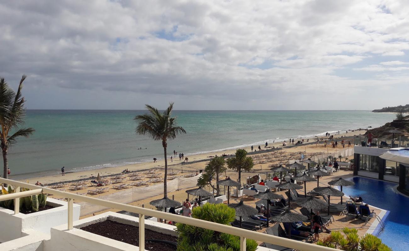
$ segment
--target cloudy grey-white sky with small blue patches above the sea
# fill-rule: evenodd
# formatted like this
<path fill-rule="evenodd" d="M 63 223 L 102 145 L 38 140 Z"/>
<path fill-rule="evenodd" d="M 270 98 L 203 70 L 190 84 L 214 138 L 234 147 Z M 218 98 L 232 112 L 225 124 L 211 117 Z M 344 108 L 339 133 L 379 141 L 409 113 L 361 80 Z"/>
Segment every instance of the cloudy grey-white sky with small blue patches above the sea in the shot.
<path fill-rule="evenodd" d="M 0 76 L 28 109 L 407 104 L 407 0 L 0 2 Z"/>

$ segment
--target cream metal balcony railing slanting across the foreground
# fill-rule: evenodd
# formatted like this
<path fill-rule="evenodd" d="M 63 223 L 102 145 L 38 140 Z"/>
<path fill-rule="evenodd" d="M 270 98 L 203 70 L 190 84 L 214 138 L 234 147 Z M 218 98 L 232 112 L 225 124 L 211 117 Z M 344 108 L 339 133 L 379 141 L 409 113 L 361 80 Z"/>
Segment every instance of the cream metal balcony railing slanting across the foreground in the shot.
<path fill-rule="evenodd" d="M 246 240 L 247 239 L 253 239 L 253 240 L 260 241 L 260 242 L 276 244 L 279 246 L 288 247 L 291 249 L 302 250 L 302 251 L 335 251 L 337 250 L 337 249 L 332 249 L 329 247 L 322 247 L 322 246 L 318 246 L 318 245 L 314 245 L 314 244 L 310 244 L 306 242 L 301 242 L 297 240 L 290 240 L 290 239 L 281 238 L 281 237 L 277 237 L 273 235 L 268 235 L 265 233 L 259 233 L 256 231 L 250 231 L 250 230 L 240 229 L 237 227 L 231 227 L 231 226 L 227 226 L 223 224 L 218 224 L 215 222 L 209 222 L 205 220 L 189 218 L 189 217 L 185 217 L 182 215 L 175 215 L 172 213 L 165 213 L 162 211 L 146 209 L 143 207 L 136 207 L 136 206 L 131 206 L 127 204 L 121 204 L 118 202 L 112 202 L 108 200 L 101 200 L 98 198 L 87 197 L 87 196 L 79 195 L 75 193 L 68 193 L 64 191 L 50 189 L 47 187 L 40 187 L 40 186 L 36 186 L 36 185 L 24 183 L 24 182 L 19 182 L 15 180 L 7 180 L 4 178 L 0 178 L 0 183 L 11 184 L 16 188 L 24 187 L 28 189 L 33 189 L 31 191 L 0 195 L 0 201 L 14 199 L 15 205 L 20 202 L 20 197 L 25 197 L 27 195 L 33 195 L 33 194 L 39 194 L 39 193 L 51 193 L 53 195 L 58 195 L 58 196 L 62 196 L 63 198 L 67 198 L 68 200 L 68 210 L 67 210 L 68 211 L 67 213 L 68 214 L 67 215 L 68 230 L 73 229 L 73 218 L 72 218 L 73 200 L 84 201 L 84 202 L 88 202 L 91 204 L 100 205 L 103 207 L 109 207 L 112 209 L 119 209 L 119 210 L 124 210 L 124 211 L 132 212 L 132 213 L 138 213 L 139 214 L 139 250 L 140 251 L 145 250 L 145 247 L 144 247 L 145 242 L 143 241 L 145 239 L 145 221 L 144 221 L 145 215 L 160 218 L 160 219 L 171 220 L 174 222 L 180 222 L 180 223 L 192 225 L 195 227 L 211 229 L 213 231 L 218 231 L 222 233 L 229 233 L 231 235 L 240 236 L 240 251 L 246 250 Z M 16 189 L 16 191 L 18 190 L 19 189 Z M 15 213 L 18 213 L 18 207 L 15 207 L 14 210 L 15 210 Z"/>

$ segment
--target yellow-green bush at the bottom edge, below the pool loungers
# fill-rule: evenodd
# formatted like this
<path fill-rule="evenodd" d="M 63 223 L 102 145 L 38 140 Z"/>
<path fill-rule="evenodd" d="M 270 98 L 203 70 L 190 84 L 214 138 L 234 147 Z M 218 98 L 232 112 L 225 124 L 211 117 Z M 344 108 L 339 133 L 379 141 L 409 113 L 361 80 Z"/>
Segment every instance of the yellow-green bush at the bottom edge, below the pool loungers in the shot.
<path fill-rule="evenodd" d="M 319 240 L 317 245 L 344 251 L 392 251 L 378 237 L 366 234 L 360 238 L 357 229 L 347 227 L 341 231 L 332 231 L 326 238 Z"/>

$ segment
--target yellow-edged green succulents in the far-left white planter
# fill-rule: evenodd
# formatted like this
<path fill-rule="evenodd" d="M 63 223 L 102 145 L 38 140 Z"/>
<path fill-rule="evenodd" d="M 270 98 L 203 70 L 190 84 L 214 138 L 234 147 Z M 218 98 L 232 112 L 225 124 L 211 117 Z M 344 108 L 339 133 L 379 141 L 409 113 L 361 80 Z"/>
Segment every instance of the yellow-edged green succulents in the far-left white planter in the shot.
<path fill-rule="evenodd" d="M 20 191 L 29 191 L 27 188 L 20 188 Z M 2 187 L 0 195 L 15 193 L 15 188 L 12 188 L 10 185 L 5 189 Z M 27 211 L 37 212 L 40 207 L 45 207 L 47 203 L 47 194 L 40 193 L 31 196 L 21 197 L 20 198 L 20 209 L 24 206 Z M 14 209 L 14 200 L 4 200 L 0 201 L 0 207 L 4 207 L 10 210 Z"/>

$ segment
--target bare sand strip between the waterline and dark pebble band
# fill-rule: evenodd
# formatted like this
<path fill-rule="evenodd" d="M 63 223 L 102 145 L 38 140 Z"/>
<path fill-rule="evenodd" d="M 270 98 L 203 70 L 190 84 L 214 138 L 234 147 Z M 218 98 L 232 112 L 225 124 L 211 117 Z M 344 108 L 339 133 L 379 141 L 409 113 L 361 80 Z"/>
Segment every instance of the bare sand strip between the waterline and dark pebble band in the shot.
<path fill-rule="evenodd" d="M 363 132 L 362 132 L 363 131 Z M 345 133 L 345 130 L 343 131 L 343 133 L 341 131 L 340 134 L 333 134 L 334 135 L 334 139 L 338 139 L 342 137 L 353 137 L 355 135 L 361 135 L 366 131 L 366 129 L 355 129 L 355 130 L 351 130 L 348 131 L 348 133 Z M 336 131 L 330 131 L 331 133 L 336 132 Z M 321 135 L 322 134 L 322 135 Z M 316 135 L 319 135 L 319 138 L 326 138 L 325 137 L 325 132 L 324 133 L 317 133 Z M 324 136 L 324 137 L 322 137 Z M 306 143 L 306 141 L 308 140 L 309 143 L 315 142 L 315 136 L 312 137 L 294 137 L 294 143 L 297 142 L 298 140 L 302 140 L 304 139 L 304 143 Z M 312 141 L 311 141 L 312 140 Z M 266 141 L 263 141 L 264 144 L 259 144 L 262 151 L 260 153 L 265 153 L 265 150 L 270 150 L 272 148 L 270 147 L 274 147 L 274 148 L 278 148 L 278 147 L 282 147 L 283 142 L 286 141 L 287 143 L 287 147 L 292 146 L 292 144 L 288 144 L 288 139 L 279 139 L 279 140 L 274 140 L 274 143 L 268 143 L 268 149 L 264 148 L 264 144 Z M 261 141 L 260 141 L 261 142 Z M 268 142 L 268 141 L 267 141 Z M 353 143 L 353 142 L 352 142 Z M 297 145 L 297 147 L 302 147 L 302 146 L 306 146 L 307 144 L 303 144 L 303 145 Z M 242 146 L 237 146 L 237 147 L 231 147 L 229 149 L 219 149 L 219 150 L 213 150 L 213 151 L 206 151 L 203 153 L 197 153 L 197 154 L 192 154 L 192 155 L 188 155 L 186 154 L 185 157 L 189 158 L 189 162 L 187 162 L 184 165 L 189 165 L 189 164 L 193 164 L 195 162 L 198 161 L 205 161 L 208 160 L 209 158 L 211 158 L 210 156 L 214 156 L 214 155 L 232 155 L 236 152 L 236 149 L 240 149 L 243 148 L 245 150 L 247 150 L 247 152 L 251 152 L 251 144 L 247 144 L 242 145 Z M 255 145 L 254 144 L 254 149 L 258 151 L 258 144 Z M 285 148 L 284 148 L 285 149 Z M 169 151 L 169 149 L 168 149 Z M 254 154 L 254 153 L 253 153 Z M 176 167 L 178 166 L 178 168 L 180 168 L 180 165 L 182 163 L 182 160 L 178 160 L 178 156 L 176 155 L 168 155 L 168 168 L 171 169 L 172 167 Z M 173 162 L 171 162 L 170 157 L 173 157 Z M 182 168 L 184 165 L 181 165 Z M 98 173 L 101 176 L 110 176 L 110 175 L 114 175 L 117 173 L 121 173 L 123 170 L 128 169 L 129 171 L 144 171 L 147 169 L 153 169 L 153 168 L 164 168 L 164 159 L 157 159 L 157 162 L 152 162 L 152 161 L 146 161 L 146 162 L 139 162 L 139 163 L 133 163 L 133 164 L 123 164 L 123 165 L 118 165 L 115 167 L 103 167 L 103 168 L 99 168 L 99 169 L 89 169 L 89 170 L 83 170 L 83 171 L 70 171 L 67 170 L 65 172 L 65 175 L 62 176 L 61 172 L 56 171 L 53 174 L 48 174 L 48 175 L 35 175 L 35 173 L 32 173 L 33 175 L 27 175 L 27 174 L 22 174 L 22 175 L 18 175 L 18 176 L 22 176 L 20 178 L 18 178 L 17 180 L 23 181 L 23 182 L 27 182 L 29 181 L 30 183 L 34 183 L 36 181 L 39 181 L 43 184 L 52 184 L 52 183 L 58 183 L 58 182 L 71 182 L 72 180 L 81 180 L 81 179 L 89 179 L 92 177 L 96 177 L 98 175 Z M 196 170 L 198 171 L 198 170 Z M 44 173 L 44 172 L 43 172 Z M 12 179 L 13 176 L 11 176 Z"/>

